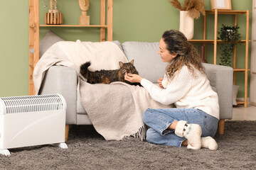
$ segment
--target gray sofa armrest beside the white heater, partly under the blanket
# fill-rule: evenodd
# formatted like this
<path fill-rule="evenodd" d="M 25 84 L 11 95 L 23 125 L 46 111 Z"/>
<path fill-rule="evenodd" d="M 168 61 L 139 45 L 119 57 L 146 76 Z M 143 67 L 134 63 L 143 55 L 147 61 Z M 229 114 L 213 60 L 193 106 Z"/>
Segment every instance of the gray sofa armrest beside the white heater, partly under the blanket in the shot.
<path fill-rule="evenodd" d="M 78 74 L 75 69 L 52 66 L 46 72 L 39 94 L 61 94 L 67 102 L 66 124 L 76 124 Z"/>

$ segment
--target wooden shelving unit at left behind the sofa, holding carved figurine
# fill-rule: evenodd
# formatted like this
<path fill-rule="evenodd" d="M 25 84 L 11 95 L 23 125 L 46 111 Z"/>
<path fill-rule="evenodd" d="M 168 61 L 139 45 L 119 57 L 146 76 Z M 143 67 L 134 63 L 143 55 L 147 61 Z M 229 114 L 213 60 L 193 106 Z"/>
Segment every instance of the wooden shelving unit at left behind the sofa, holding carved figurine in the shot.
<path fill-rule="evenodd" d="M 35 87 L 33 84 L 33 69 L 39 60 L 39 28 L 40 27 L 86 27 L 86 28 L 100 28 L 100 41 L 112 41 L 113 35 L 113 0 L 99 0 L 100 1 L 100 25 L 80 26 L 80 25 L 40 25 L 39 24 L 39 0 L 29 0 L 29 50 L 34 48 L 34 53 L 29 53 L 28 60 L 28 94 L 35 94 Z M 63 3 L 65 3 L 63 1 Z M 106 17 L 107 6 L 107 17 Z M 107 24 L 106 24 L 107 20 Z M 107 28 L 107 31 L 106 31 Z"/>

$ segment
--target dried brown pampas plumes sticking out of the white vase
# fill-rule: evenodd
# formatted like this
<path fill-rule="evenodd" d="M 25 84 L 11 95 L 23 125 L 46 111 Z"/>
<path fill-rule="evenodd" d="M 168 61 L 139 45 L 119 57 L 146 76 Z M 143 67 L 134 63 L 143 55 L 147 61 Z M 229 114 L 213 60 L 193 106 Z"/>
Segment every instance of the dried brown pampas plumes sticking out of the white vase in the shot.
<path fill-rule="evenodd" d="M 171 0 L 169 2 L 175 8 L 178 8 L 179 11 L 188 11 L 188 16 L 191 16 L 191 18 L 199 18 L 200 12 L 203 16 L 206 15 L 203 0 L 185 0 L 183 6 L 181 6 L 181 3 L 178 0 Z"/>

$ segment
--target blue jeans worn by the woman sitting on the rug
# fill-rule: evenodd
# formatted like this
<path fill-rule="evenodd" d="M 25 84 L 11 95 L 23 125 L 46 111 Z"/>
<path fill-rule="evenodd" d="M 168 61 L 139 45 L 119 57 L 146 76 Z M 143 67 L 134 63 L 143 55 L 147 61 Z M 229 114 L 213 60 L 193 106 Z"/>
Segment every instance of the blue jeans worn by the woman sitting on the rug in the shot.
<path fill-rule="evenodd" d="M 201 126 L 202 137 L 215 135 L 218 128 L 218 119 L 196 108 L 148 108 L 143 113 L 143 121 L 149 126 L 146 131 L 146 140 L 159 145 L 181 147 L 185 137 L 178 137 L 174 130 L 167 129 L 171 123 L 185 120 Z"/>

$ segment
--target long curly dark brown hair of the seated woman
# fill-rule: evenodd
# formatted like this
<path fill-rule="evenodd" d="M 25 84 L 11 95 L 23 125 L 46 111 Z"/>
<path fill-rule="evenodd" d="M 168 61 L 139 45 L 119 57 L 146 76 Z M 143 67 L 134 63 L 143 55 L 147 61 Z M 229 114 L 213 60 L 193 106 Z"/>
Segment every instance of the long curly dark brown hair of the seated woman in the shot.
<path fill-rule="evenodd" d="M 169 76 L 169 79 L 172 79 L 174 73 L 180 70 L 184 64 L 192 73 L 194 69 L 198 69 L 201 73 L 205 74 L 201 57 L 183 33 L 178 30 L 167 30 L 162 35 L 162 38 L 166 43 L 169 53 L 177 55 L 166 67 L 166 74 Z"/>

